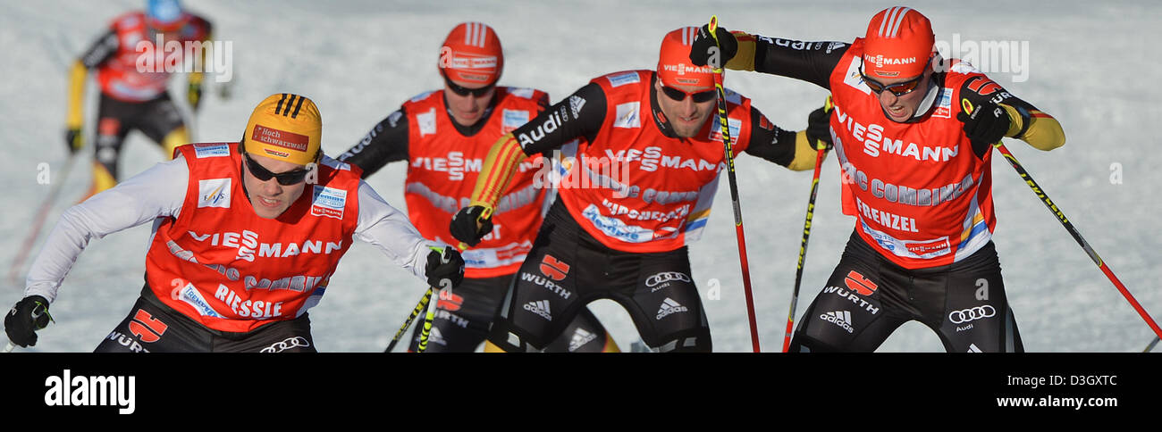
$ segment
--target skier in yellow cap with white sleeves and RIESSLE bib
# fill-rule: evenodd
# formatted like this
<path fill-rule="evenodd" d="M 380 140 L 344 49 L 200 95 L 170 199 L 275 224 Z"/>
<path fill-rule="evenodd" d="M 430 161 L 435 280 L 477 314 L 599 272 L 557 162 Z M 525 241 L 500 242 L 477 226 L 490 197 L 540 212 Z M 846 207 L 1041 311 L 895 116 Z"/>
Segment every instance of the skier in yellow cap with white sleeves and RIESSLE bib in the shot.
<path fill-rule="evenodd" d="M 70 208 L 5 317 L 8 339 L 35 345 L 92 238 L 149 222 L 145 287 L 98 352 L 314 352 L 307 310 L 354 238 L 429 285 L 459 283 L 456 249 L 421 237 L 358 167 L 323 154 L 321 136 L 310 99 L 274 94 L 241 142 L 179 146 L 173 160 Z"/>

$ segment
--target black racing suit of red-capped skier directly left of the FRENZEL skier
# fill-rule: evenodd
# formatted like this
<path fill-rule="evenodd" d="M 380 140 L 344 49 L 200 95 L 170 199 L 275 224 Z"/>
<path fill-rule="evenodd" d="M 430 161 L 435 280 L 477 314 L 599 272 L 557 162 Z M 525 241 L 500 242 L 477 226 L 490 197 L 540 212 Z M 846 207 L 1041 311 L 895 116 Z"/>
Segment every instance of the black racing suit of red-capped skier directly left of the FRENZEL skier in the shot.
<path fill-rule="evenodd" d="M 657 79 L 657 78 L 654 78 Z M 650 117 L 665 135 L 676 137 L 665 116 L 657 115 L 657 88 L 651 82 Z M 569 101 L 587 101 L 574 110 Z M 578 137 L 593 142 L 607 114 L 604 91 L 590 82 L 544 113 L 572 113 L 555 130 L 523 146 L 526 156 L 548 154 Z M 752 124 L 767 124 L 751 109 Z M 545 118 L 538 116 L 517 128 L 514 136 L 530 134 Z M 787 166 L 795 157 L 795 132 L 777 127 L 751 128 L 745 150 Z M 560 265 L 564 264 L 564 265 Z M 561 272 L 550 280 L 545 266 Z M 552 272 L 551 272 L 552 273 Z M 544 295 L 545 290 L 555 295 Z M 558 201 L 550 209 L 529 258 L 505 296 L 488 340 L 507 352 L 537 351 L 565 330 L 566 323 L 594 300 L 609 298 L 629 312 L 641 340 L 653 351 L 709 352 L 712 348 L 705 309 L 690 272 L 688 249 L 658 253 L 616 251 L 590 236 Z"/>

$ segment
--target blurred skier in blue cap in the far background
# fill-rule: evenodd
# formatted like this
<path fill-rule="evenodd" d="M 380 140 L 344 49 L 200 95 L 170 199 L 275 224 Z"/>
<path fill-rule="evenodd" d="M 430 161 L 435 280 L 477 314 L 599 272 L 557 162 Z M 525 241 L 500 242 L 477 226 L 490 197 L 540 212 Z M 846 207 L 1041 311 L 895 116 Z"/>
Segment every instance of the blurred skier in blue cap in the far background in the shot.
<path fill-rule="evenodd" d="M 160 37 L 162 45 L 157 45 Z M 186 52 L 167 53 L 167 42 L 208 42 L 210 23 L 186 12 L 178 0 L 149 0 L 144 10 L 117 16 L 85 53 L 73 63 L 69 73 L 69 115 L 65 121 L 65 144 L 70 152 L 84 146 L 85 79 L 88 70 L 96 70 L 101 92 L 96 113 L 96 145 L 93 161 L 93 183 L 86 197 L 116 185 L 117 159 L 121 145 L 130 130 L 139 130 L 162 146 L 166 157 L 173 149 L 189 142 L 189 134 L 181 113 L 170 100 L 166 86 L 171 66 L 182 66 L 177 59 Z M 139 46 L 141 45 L 141 46 Z M 156 46 L 155 46 L 156 45 Z M 150 50 L 142 50 L 148 46 Z M 142 56 L 160 53 L 162 62 L 142 62 Z M 171 64 L 171 59 L 172 62 Z M 142 70 L 143 66 L 145 70 Z M 186 98 L 189 107 L 198 109 L 202 96 L 202 72 L 188 74 Z"/>

